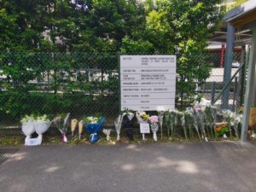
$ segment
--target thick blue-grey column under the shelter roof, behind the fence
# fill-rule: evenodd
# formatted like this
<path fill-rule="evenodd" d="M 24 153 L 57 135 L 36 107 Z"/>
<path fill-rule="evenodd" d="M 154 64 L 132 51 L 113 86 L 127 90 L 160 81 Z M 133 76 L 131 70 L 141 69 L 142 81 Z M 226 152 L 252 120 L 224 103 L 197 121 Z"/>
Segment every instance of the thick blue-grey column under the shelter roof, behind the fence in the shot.
<path fill-rule="evenodd" d="M 235 28 L 228 24 L 228 33 L 227 33 L 227 48 L 225 52 L 225 64 L 224 64 L 224 84 L 227 84 L 230 81 L 231 77 L 231 68 L 232 68 L 232 54 L 233 54 L 233 43 L 235 40 Z M 222 106 L 221 108 L 229 108 L 229 98 L 230 98 L 230 85 L 227 89 L 224 90 L 224 95 L 222 96 Z"/>

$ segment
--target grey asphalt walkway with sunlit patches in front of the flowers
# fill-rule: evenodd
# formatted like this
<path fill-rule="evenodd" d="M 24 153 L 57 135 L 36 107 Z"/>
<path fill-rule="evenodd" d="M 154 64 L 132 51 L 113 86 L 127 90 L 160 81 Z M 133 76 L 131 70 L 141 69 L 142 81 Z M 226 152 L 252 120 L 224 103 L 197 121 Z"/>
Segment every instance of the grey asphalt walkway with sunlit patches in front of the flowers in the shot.
<path fill-rule="evenodd" d="M 2 192 L 256 191 L 256 145 L 163 143 L 22 147 Z"/>

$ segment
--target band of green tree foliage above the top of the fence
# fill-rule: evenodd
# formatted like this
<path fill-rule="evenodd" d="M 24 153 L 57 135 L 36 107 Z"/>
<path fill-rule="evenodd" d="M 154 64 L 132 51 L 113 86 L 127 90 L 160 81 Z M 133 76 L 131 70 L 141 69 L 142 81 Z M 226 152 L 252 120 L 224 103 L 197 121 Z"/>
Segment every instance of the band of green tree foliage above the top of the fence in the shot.
<path fill-rule="evenodd" d="M 219 0 L 1 0 L 0 41 L 5 44 L 0 50 L 100 53 L 125 50 L 138 42 L 152 53 L 177 54 L 190 39 L 205 48 L 214 30 L 210 26 L 220 18 L 217 3 Z"/>

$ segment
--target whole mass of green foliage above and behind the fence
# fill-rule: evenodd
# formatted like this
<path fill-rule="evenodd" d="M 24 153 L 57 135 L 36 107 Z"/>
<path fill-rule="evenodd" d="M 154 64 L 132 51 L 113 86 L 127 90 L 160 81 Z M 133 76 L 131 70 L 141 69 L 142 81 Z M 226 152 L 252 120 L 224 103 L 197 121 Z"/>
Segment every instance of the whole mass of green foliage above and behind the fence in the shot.
<path fill-rule="evenodd" d="M 29 84 L 32 79 L 50 76 L 50 86 L 55 93 L 95 87 L 102 91 L 106 87 L 118 90 L 118 81 L 113 75 L 118 60 L 115 56 L 104 57 L 104 54 L 175 54 L 179 75 L 177 96 L 189 99 L 195 95 L 194 82 L 203 82 L 209 75 L 204 53 L 207 38 L 221 17 L 216 6 L 219 2 L 0 0 L 0 51 L 8 53 L 8 56 L 1 55 L 0 68 L 8 79 L 12 79 L 9 81 L 12 86 L 6 89 L 13 89 L 16 96 L 22 88 L 19 98 L 25 99 L 28 93 L 37 89 Z M 9 54 L 22 51 L 26 54 L 10 59 Z M 38 57 L 39 52 L 45 55 Z M 61 57 L 59 53 L 66 56 Z M 92 57 L 86 54 L 75 56 L 76 53 L 102 56 L 90 59 Z M 111 65 L 106 65 L 106 60 Z M 90 73 L 80 73 L 80 68 L 99 69 L 102 74 L 108 73 L 112 81 L 106 82 L 102 76 L 89 84 Z M 78 73 L 77 83 L 66 79 L 66 73 L 70 77 Z M 55 96 L 52 98 L 56 100 Z M 5 99 L 2 103 L 12 103 Z"/>

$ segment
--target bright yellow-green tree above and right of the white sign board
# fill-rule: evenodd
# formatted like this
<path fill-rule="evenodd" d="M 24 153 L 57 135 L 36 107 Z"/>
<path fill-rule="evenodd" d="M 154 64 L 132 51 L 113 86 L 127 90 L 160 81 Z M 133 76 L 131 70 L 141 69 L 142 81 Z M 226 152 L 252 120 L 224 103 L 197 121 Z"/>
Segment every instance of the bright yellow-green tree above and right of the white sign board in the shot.
<path fill-rule="evenodd" d="M 195 81 L 209 76 L 206 63 L 207 39 L 221 19 L 219 0 L 164 0 L 146 2 L 148 15 L 144 39 L 153 44 L 154 53 L 177 55 L 177 96 L 193 102 Z M 183 105 L 183 103 L 182 103 Z"/>

